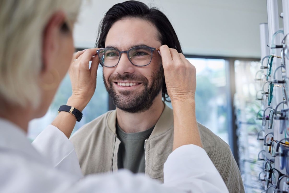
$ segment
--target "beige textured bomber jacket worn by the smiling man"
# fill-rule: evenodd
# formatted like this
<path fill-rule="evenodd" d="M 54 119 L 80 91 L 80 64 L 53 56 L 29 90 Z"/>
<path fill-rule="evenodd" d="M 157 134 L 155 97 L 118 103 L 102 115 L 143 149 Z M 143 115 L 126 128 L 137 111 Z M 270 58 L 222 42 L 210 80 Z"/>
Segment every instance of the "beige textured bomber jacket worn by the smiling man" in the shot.
<path fill-rule="evenodd" d="M 116 136 L 115 125 L 116 111 L 108 111 L 81 127 L 71 137 L 84 175 L 118 170 L 117 154 L 121 141 Z M 198 123 L 198 127 L 203 148 L 229 192 L 244 192 L 241 174 L 228 144 L 205 126 Z M 173 148 L 173 110 L 168 106 L 165 105 L 144 148 L 146 175 L 163 182 L 164 163 Z"/>

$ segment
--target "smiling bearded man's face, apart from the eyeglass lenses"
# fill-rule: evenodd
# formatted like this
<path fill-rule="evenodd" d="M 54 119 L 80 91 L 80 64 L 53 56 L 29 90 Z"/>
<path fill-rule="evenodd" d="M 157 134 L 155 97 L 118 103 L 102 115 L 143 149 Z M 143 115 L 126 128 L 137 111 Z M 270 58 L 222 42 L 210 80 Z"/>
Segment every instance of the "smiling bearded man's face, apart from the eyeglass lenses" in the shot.
<path fill-rule="evenodd" d="M 161 46 L 158 30 L 142 19 L 129 18 L 115 22 L 105 39 L 105 47 L 120 51 L 139 45 Z M 161 57 L 157 51 L 153 51 L 151 63 L 147 66 L 132 65 L 127 54 L 123 53 L 116 67 L 103 67 L 104 84 L 114 104 L 129 113 L 143 112 L 151 107 L 153 100 L 161 95 L 163 76 Z"/>

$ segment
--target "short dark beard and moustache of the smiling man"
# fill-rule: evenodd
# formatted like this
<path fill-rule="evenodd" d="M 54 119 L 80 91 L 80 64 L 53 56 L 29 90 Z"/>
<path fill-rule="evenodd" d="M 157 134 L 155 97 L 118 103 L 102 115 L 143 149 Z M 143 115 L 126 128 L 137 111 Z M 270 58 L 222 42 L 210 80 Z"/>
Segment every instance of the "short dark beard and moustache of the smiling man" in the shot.
<path fill-rule="evenodd" d="M 149 80 L 142 75 L 136 74 L 116 74 L 111 75 L 108 78 L 108 83 L 105 81 L 103 74 L 103 82 L 108 94 L 113 100 L 114 105 L 125 112 L 128 113 L 141 113 L 148 110 L 152 104 L 153 100 L 162 91 L 163 79 L 164 79 L 164 69 L 162 65 L 158 71 L 151 76 L 151 85 L 149 86 Z M 113 84 L 114 80 L 128 80 L 128 81 L 141 81 L 143 88 L 140 92 L 136 91 L 119 91 L 116 93 Z"/>

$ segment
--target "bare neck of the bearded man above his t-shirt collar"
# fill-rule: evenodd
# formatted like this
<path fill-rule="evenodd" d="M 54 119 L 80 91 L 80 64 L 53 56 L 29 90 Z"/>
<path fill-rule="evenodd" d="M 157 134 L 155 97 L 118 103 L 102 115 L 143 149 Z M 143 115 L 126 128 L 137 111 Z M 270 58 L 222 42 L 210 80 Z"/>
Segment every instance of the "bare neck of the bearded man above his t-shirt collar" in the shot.
<path fill-rule="evenodd" d="M 162 95 L 158 95 L 147 111 L 127 113 L 116 109 L 117 123 L 125 133 L 141 132 L 153 127 L 158 122 L 163 110 Z"/>

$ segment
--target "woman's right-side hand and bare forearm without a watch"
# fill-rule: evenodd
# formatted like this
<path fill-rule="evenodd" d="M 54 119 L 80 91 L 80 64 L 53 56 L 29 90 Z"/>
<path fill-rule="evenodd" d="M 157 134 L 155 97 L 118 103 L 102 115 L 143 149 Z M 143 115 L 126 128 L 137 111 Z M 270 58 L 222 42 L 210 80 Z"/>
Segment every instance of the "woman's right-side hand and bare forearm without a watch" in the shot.
<path fill-rule="evenodd" d="M 167 45 L 160 47 L 160 53 L 174 112 L 173 150 L 188 144 L 202 147 L 195 110 L 196 68 Z"/>

